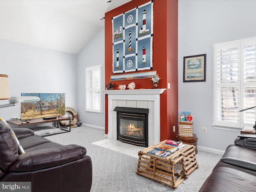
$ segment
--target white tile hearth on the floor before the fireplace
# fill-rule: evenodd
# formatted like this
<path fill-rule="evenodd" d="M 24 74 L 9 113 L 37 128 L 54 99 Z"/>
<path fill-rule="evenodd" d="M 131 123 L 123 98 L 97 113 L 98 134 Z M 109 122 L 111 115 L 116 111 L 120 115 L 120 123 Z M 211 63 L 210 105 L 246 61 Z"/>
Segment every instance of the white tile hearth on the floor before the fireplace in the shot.
<path fill-rule="evenodd" d="M 135 146 L 127 143 L 123 143 L 115 139 L 104 139 L 93 142 L 92 144 L 102 146 L 120 153 L 124 153 L 133 157 L 138 158 L 138 151 L 145 149 L 146 147 Z"/>

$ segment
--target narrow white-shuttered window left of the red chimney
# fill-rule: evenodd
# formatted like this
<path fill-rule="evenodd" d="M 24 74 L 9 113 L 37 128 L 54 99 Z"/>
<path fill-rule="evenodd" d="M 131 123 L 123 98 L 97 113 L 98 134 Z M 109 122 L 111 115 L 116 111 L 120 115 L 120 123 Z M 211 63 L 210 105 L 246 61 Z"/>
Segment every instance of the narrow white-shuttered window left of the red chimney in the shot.
<path fill-rule="evenodd" d="M 102 66 L 86 67 L 86 112 L 102 113 Z"/>

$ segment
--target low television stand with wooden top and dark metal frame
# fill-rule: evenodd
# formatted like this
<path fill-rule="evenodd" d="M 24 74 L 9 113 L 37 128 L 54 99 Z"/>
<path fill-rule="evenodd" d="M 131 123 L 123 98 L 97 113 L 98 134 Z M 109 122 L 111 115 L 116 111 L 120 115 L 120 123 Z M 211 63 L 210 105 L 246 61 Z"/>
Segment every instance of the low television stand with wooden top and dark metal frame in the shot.
<path fill-rule="evenodd" d="M 48 135 L 54 135 L 54 134 L 60 134 L 60 133 L 65 133 L 65 132 L 70 132 L 70 126 L 68 128 L 60 128 L 60 121 L 65 121 L 65 120 L 69 120 L 69 124 L 71 123 L 70 118 L 68 117 L 63 117 L 63 116 L 58 116 L 54 119 L 46 119 L 44 120 L 43 118 L 36 118 L 36 119 L 29 119 L 26 120 L 26 123 L 24 123 L 24 121 L 22 120 L 8 120 L 6 121 L 8 124 L 10 124 L 10 126 L 12 128 L 19 128 L 19 127 L 26 127 L 26 126 L 30 126 L 30 129 L 33 129 L 31 127 L 31 125 L 36 125 L 36 124 L 43 124 L 43 123 L 50 123 L 50 122 L 54 122 L 54 127 L 56 128 L 56 122 L 58 123 L 58 133 L 52 133 L 50 134 L 50 132 L 46 132 L 45 135 L 40 135 L 40 136 L 48 136 Z M 41 126 L 40 126 L 41 127 Z M 36 128 L 40 128 L 39 126 L 36 126 Z M 41 128 L 50 128 L 51 126 L 42 126 Z M 51 127 L 51 128 L 54 128 Z M 56 128 L 57 129 L 57 128 Z M 36 132 L 35 132 L 36 134 Z"/>

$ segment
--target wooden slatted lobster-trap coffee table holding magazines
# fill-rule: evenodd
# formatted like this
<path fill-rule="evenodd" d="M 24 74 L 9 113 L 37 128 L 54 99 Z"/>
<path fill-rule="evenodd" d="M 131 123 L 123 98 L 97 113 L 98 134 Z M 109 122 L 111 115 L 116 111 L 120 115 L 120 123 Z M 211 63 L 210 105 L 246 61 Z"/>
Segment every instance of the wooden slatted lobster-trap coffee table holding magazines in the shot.
<path fill-rule="evenodd" d="M 167 158 L 162 158 L 147 152 L 156 146 L 165 144 L 166 140 L 138 152 L 136 174 L 156 182 L 177 188 L 178 185 L 198 168 L 194 145 L 186 145 L 172 152 Z"/>

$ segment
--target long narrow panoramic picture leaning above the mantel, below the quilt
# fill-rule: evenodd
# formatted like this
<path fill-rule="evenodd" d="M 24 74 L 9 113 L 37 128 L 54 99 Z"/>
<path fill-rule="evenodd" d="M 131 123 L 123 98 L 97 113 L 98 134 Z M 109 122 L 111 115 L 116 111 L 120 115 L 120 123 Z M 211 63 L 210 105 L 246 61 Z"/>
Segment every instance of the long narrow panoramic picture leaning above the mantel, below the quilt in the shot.
<path fill-rule="evenodd" d="M 152 78 L 153 75 L 156 75 L 156 71 L 138 72 L 138 73 L 130 73 L 130 74 L 122 74 L 122 75 L 112 75 L 112 76 L 110 76 L 110 81 Z"/>

